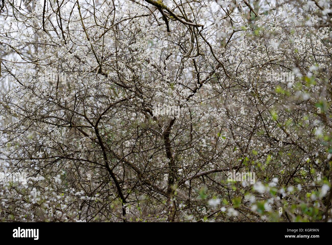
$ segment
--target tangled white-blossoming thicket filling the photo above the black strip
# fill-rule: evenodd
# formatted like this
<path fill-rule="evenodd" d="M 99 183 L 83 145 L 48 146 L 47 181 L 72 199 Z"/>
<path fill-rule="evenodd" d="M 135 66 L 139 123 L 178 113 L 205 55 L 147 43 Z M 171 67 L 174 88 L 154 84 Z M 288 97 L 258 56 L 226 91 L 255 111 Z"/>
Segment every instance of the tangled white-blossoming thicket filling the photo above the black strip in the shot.
<path fill-rule="evenodd" d="M 331 221 L 329 1 L 0 7 L 3 221 Z"/>

